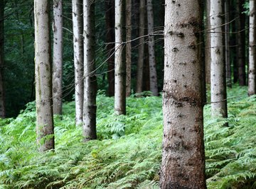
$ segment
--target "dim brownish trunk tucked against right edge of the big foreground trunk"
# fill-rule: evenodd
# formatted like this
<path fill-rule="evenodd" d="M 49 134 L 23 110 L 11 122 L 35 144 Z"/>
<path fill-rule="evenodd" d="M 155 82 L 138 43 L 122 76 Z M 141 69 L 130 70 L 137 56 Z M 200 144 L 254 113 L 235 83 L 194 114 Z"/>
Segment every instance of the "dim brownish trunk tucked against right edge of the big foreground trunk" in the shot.
<path fill-rule="evenodd" d="M 206 84 L 210 84 L 210 0 L 206 0 L 206 46 L 205 46 L 205 62 L 206 62 Z"/>

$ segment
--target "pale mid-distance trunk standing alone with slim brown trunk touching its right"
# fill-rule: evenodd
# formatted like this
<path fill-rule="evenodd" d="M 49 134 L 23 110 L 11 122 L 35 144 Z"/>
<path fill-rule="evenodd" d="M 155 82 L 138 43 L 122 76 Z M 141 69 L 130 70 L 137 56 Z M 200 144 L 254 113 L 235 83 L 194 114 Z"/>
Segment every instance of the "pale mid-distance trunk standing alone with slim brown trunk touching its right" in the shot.
<path fill-rule="evenodd" d="M 122 0 L 114 1 L 115 52 L 114 52 L 114 110 L 117 115 L 126 113 L 125 62 L 122 61 Z"/>

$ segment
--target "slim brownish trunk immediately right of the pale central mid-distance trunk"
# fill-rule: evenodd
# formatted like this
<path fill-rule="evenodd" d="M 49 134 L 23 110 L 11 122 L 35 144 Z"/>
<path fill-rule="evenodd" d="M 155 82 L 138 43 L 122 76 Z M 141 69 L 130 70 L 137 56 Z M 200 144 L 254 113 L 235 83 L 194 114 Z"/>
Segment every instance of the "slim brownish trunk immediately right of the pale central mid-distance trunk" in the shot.
<path fill-rule="evenodd" d="M 131 95 L 131 66 L 132 66 L 132 0 L 126 0 L 126 96 Z"/>

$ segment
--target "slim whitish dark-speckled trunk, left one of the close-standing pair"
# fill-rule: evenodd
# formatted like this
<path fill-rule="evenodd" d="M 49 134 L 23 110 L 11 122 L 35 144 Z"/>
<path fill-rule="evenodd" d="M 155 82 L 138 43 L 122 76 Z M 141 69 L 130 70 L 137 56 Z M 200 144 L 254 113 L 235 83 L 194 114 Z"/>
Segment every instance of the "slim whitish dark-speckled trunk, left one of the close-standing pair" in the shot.
<path fill-rule="evenodd" d="M 72 1 L 73 49 L 75 67 L 75 125 L 82 124 L 83 110 L 83 40 L 82 0 Z"/>

